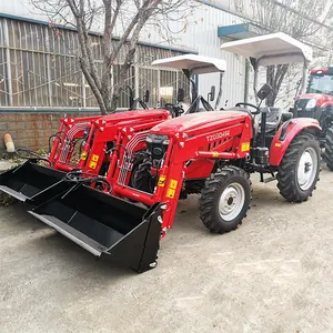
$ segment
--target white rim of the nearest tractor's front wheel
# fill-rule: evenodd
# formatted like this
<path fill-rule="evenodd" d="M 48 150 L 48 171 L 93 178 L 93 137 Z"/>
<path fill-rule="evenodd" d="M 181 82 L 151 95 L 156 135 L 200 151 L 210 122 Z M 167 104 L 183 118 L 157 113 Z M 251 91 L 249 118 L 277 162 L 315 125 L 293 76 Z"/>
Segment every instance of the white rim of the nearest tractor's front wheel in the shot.
<path fill-rule="evenodd" d="M 219 213 L 224 221 L 234 220 L 242 211 L 245 202 L 244 188 L 239 183 L 229 184 L 221 194 Z"/>

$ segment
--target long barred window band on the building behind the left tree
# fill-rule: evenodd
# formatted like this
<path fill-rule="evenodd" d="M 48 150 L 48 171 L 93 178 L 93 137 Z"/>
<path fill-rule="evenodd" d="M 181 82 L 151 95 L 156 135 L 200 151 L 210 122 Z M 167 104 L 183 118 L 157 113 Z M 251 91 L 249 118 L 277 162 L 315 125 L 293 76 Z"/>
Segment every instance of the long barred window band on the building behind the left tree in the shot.
<path fill-rule="evenodd" d="M 117 44 L 117 41 L 114 41 Z M 103 44 L 100 36 L 91 37 L 91 46 L 99 75 L 102 75 Z M 119 82 L 119 71 L 128 46 L 121 50 L 112 65 L 112 82 Z M 0 18 L 0 107 L 38 108 L 98 108 L 77 58 L 78 33 Z M 125 87 L 134 98 L 150 91 L 149 107 L 154 108 L 176 101 L 178 88 L 188 92 L 181 72 L 152 68 L 154 59 L 179 53 L 147 46 L 139 46 L 135 62 L 125 78 Z M 129 108 L 129 89 L 121 92 L 119 108 Z"/>

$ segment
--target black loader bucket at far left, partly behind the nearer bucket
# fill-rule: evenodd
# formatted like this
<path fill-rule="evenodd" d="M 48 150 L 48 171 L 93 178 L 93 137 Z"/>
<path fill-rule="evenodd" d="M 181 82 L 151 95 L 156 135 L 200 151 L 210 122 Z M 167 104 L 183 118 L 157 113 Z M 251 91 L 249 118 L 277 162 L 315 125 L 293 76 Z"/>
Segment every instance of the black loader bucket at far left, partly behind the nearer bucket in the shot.
<path fill-rule="evenodd" d="M 48 188 L 48 198 L 70 189 L 72 184 L 63 182 L 65 173 L 37 164 L 28 160 L 23 164 L 0 174 L 0 191 L 36 205 L 47 200 L 46 195 L 39 194 Z M 42 198 L 42 201 L 39 199 Z"/>

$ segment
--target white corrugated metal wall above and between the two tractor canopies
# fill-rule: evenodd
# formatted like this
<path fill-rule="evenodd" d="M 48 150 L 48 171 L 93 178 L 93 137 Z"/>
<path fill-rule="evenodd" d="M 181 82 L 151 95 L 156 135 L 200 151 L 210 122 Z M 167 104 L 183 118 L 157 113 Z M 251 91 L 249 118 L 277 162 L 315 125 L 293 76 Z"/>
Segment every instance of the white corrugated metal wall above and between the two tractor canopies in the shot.
<path fill-rule="evenodd" d="M 245 61 L 242 57 L 222 51 L 220 47 L 223 41 L 218 37 L 219 26 L 236 24 L 242 21 L 233 14 L 205 4 L 200 4 L 188 21 L 186 30 L 174 34 L 171 43 L 161 38 L 153 29 L 145 29 L 142 38 L 152 43 L 170 44 L 196 51 L 201 56 L 224 59 L 228 70 L 223 80 L 222 104 L 224 105 L 225 100 L 229 101 L 228 105 L 244 101 Z M 172 22 L 169 28 L 172 31 L 181 31 L 183 21 Z M 201 75 L 199 79 L 200 93 L 206 97 L 212 84 L 219 87 L 219 80 L 218 73 Z"/>

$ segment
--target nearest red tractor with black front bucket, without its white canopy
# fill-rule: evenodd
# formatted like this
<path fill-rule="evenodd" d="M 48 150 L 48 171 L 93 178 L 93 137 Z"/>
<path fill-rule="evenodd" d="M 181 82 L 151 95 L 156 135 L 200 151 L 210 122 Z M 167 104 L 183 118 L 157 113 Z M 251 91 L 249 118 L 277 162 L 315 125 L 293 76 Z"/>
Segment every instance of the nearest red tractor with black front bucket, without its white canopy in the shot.
<path fill-rule="evenodd" d="M 264 85 L 258 97 L 264 100 L 270 92 Z M 246 215 L 253 172 L 276 179 L 287 201 L 312 195 L 320 172 L 319 122 L 281 121 L 271 137 L 266 112 L 239 103 L 164 121 L 147 137 L 138 189 L 118 181 L 107 194 L 73 179 L 70 190 L 40 193 L 42 203 L 29 212 L 95 256 L 105 254 L 137 272 L 153 269 L 160 239 L 172 226 L 178 200 L 188 193 L 201 194 L 201 220 L 216 233 L 236 229 Z"/>

